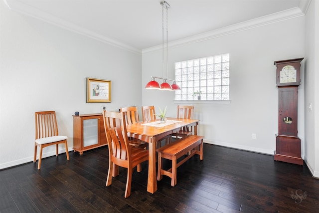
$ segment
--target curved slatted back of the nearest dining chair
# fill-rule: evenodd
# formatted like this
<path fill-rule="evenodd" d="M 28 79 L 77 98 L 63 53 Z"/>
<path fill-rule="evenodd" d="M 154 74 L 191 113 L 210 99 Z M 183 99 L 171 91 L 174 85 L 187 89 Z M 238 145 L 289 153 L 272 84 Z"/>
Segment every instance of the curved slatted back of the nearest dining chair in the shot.
<path fill-rule="evenodd" d="M 103 114 L 109 155 L 122 161 L 130 161 L 131 149 L 126 130 L 125 113 L 104 110 Z"/>

